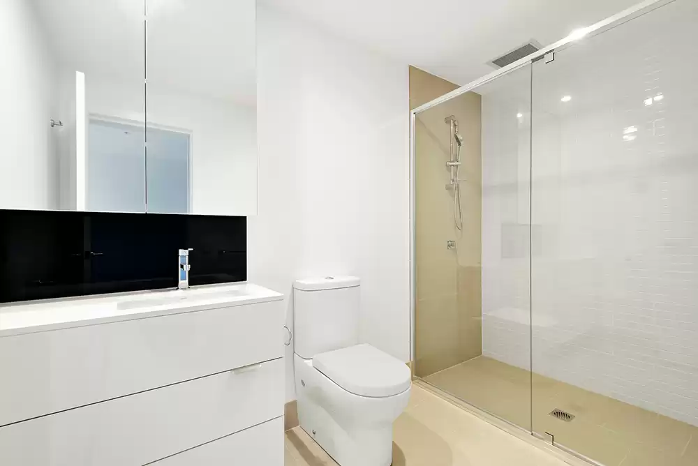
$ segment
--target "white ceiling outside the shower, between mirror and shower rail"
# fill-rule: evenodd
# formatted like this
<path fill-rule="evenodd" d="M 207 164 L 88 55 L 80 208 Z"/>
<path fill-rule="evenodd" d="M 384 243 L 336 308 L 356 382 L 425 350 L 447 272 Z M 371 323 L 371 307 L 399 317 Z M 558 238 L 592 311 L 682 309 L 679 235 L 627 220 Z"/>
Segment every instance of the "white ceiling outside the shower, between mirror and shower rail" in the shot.
<path fill-rule="evenodd" d="M 638 0 L 258 0 L 456 84 L 535 39 L 556 42 Z"/>

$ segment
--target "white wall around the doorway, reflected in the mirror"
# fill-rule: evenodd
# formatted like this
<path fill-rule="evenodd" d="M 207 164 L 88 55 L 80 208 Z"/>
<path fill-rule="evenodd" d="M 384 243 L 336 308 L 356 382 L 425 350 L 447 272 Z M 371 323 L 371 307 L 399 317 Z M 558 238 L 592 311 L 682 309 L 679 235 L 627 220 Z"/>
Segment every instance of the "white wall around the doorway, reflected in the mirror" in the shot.
<path fill-rule="evenodd" d="M 144 121 L 143 84 L 87 75 L 90 114 Z M 254 107 L 148 86 L 148 123 L 191 133 L 192 212 L 257 212 L 257 137 Z"/>

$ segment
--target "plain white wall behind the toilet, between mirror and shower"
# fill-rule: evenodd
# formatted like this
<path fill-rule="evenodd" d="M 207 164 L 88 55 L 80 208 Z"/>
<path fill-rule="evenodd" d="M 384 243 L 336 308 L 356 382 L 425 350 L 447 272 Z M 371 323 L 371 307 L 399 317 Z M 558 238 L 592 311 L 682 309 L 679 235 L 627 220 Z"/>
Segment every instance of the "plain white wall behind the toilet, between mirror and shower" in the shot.
<path fill-rule="evenodd" d="M 249 280 L 362 278 L 361 340 L 402 361 L 409 329 L 408 67 L 258 10 L 259 213 Z M 292 347 L 286 398 L 295 398 Z"/>

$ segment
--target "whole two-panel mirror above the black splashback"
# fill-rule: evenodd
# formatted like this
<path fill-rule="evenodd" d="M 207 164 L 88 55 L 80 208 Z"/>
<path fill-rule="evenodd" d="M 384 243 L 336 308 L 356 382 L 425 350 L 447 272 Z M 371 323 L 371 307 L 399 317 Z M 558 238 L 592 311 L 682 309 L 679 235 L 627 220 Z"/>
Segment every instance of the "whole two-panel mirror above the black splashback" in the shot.
<path fill-rule="evenodd" d="M 255 0 L 3 0 L 0 209 L 253 215 Z"/>

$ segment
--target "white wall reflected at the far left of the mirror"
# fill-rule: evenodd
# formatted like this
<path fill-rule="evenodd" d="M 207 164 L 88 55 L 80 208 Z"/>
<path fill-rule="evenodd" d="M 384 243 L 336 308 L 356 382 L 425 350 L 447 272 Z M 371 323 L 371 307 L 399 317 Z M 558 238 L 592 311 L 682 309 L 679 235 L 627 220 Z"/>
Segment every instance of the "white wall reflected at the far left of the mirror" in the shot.
<path fill-rule="evenodd" d="M 31 2 L 0 6 L 0 135 L 3 209 L 54 209 L 58 165 L 50 127 L 56 73 Z"/>

